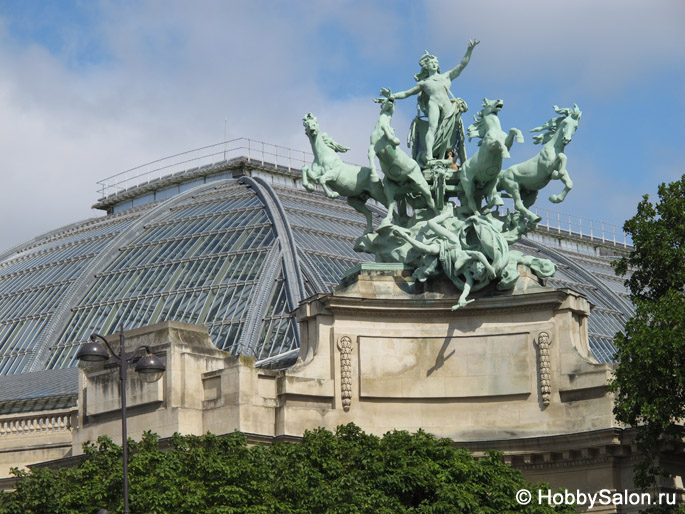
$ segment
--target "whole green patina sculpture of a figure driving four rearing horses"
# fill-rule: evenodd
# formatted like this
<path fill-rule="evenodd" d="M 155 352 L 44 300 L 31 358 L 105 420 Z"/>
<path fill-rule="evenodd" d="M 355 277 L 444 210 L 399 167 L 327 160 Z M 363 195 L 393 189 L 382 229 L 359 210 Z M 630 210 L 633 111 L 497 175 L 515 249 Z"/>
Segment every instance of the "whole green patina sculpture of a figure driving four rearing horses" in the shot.
<path fill-rule="evenodd" d="M 348 149 L 321 133 L 311 113 L 303 120 L 314 153 L 311 169 L 302 168 L 304 187 L 313 190 L 314 184 L 319 184 L 330 198 L 346 196 L 348 203 L 364 214 L 367 228 L 355 243 L 356 251 L 371 253 L 380 263 L 409 266 L 421 282 L 449 279 L 461 290 L 453 309 L 472 302 L 472 292 L 488 287 L 513 289 L 519 266 L 540 278 L 556 271 L 551 261 L 509 246 L 540 220 L 529 210 L 540 189 L 552 179 L 561 180 L 564 190 L 550 197 L 552 202 L 561 202 L 573 187 L 563 151 L 581 116 L 577 105 L 554 106 L 559 116 L 531 130 L 541 132 L 533 138 L 534 143 L 543 145 L 540 153 L 502 171 L 514 141 L 523 143 L 523 135 L 515 128 L 505 133 L 498 117 L 502 100 L 485 98 L 468 128 L 469 141 L 478 138 L 479 148 L 466 159 L 461 122 L 466 103 L 455 99 L 449 88 L 478 43 L 470 41 L 461 63 L 446 73 L 440 73 L 437 58 L 426 52 L 419 61 L 422 71 L 415 77 L 416 86 L 395 94 L 381 89 L 384 98 L 374 100 L 381 105 L 381 112 L 370 137 L 368 167 L 343 163 L 338 153 Z M 390 123 L 395 100 L 414 94 L 418 94 L 419 115 L 410 129 L 409 157 L 400 150 Z M 500 212 L 503 196 L 513 198 L 514 212 Z M 459 204 L 450 201 L 453 197 Z M 366 206 L 369 199 L 388 209 L 375 229 Z"/>

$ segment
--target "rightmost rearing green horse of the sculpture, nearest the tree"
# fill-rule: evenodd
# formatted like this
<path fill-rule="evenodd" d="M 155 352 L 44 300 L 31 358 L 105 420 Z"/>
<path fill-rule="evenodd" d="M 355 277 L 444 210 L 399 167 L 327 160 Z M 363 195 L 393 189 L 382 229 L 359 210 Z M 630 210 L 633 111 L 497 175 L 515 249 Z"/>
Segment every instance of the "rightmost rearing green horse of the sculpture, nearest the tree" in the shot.
<path fill-rule="evenodd" d="M 533 137 L 535 144 L 544 144 L 540 153 L 532 159 L 506 169 L 497 184 L 497 189 L 509 193 L 514 199 L 516 210 L 532 223 L 537 223 L 541 218 L 533 214 L 528 207 L 533 205 L 538 191 L 549 184 L 550 180 L 558 179 L 564 183 L 564 190 L 561 193 L 549 197 L 552 203 L 563 202 L 573 188 L 573 182 L 566 170 L 567 157 L 564 148 L 571 142 L 582 112 L 576 104 L 562 109 L 555 105 L 554 110 L 561 116 L 531 130 L 543 132 Z"/>

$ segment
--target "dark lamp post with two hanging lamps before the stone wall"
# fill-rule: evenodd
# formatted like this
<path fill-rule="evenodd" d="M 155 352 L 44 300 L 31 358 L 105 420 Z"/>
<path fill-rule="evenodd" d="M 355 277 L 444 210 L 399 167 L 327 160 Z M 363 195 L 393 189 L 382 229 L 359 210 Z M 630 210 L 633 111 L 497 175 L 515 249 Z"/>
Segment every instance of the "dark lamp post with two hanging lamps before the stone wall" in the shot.
<path fill-rule="evenodd" d="M 133 362 L 138 350 L 145 350 L 145 355 L 138 360 L 135 370 L 144 382 L 156 382 L 164 374 L 165 367 L 162 359 L 153 355 L 147 345 L 138 346 L 131 353 L 126 353 L 126 338 L 124 337 L 124 327 L 119 331 L 119 354 L 100 334 L 92 334 L 90 341 L 84 343 L 76 353 L 76 358 L 83 362 L 104 362 L 109 358 L 107 350 L 98 342 L 100 339 L 105 343 L 109 354 L 119 363 L 119 381 L 121 383 L 121 434 L 123 444 L 124 460 L 124 514 L 129 514 L 128 510 L 128 437 L 126 432 L 126 379 L 128 376 L 128 366 Z"/>

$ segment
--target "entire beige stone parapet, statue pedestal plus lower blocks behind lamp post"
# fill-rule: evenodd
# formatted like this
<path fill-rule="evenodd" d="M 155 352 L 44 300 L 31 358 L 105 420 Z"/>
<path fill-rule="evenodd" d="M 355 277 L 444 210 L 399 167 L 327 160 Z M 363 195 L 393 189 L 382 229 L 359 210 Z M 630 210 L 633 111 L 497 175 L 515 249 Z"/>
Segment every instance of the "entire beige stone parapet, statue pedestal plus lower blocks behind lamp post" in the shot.
<path fill-rule="evenodd" d="M 129 375 L 131 437 L 154 430 L 301 436 L 354 422 L 382 435 L 420 428 L 460 442 L 612 429 L 610 366 L 591 356 L 590 305 L 573 291 L 523 280 L 452 310 L 450 282 L 416 283 L 401 267 L 365 265 L 332 294 L 302 302 L 298 362 L 255 367 L 217 350 L 206 329 L 168 322 L 126 334 L 165 360 L 154 384 Z M 74 450 L 118 440 L 118 367 L 86 370 Z"/>

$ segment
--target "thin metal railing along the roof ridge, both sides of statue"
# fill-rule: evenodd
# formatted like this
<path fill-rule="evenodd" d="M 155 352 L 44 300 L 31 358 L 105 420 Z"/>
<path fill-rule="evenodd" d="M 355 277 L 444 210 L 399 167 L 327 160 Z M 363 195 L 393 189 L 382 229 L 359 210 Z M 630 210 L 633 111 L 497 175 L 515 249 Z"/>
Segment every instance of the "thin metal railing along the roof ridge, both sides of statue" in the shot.
<path fill-rule="evenodd" d="M 304 150 L 239 137 L 170 155 L 116 173 L 97 182 L 100 186 L 98 194 L 101 199 L 105 200 L 130 189 L 150 184 L 163 177 L 183 175 L 200 168 L 211 168 L 238 157 L 246 157 L 248 162 L 282 167 L 288 171 L 299 173 L 302 166 L 311 164 L 314 154 Z M 509 206 L 509 208 L 513 209 L 513 206 Z M 631 244 L 619 225 L 544 207 L 533 206 L 532 208 L 542 218 L 538 226 L 544 227 L 547 232 L 568 233 L 579 236 L 581 239 L 623 246 Z"/>

